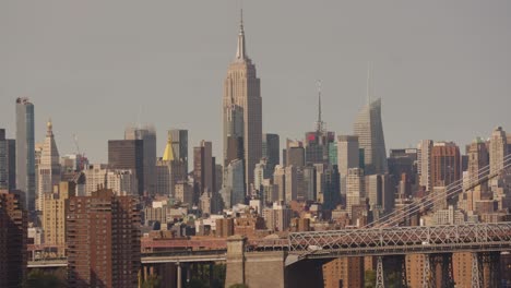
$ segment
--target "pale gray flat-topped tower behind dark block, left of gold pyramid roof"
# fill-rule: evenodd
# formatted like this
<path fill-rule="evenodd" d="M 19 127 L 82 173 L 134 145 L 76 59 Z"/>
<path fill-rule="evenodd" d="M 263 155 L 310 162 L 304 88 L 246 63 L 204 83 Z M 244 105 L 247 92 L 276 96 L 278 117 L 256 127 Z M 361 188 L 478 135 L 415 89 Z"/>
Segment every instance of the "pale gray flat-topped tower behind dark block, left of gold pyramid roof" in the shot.
<path fill-rule="evenodd" d="M 144 192 L 154 195 L 156 190 L 156 131 L 154 127 L 128 127 L 124 140 L 142 140 L 144 146 Z"/>

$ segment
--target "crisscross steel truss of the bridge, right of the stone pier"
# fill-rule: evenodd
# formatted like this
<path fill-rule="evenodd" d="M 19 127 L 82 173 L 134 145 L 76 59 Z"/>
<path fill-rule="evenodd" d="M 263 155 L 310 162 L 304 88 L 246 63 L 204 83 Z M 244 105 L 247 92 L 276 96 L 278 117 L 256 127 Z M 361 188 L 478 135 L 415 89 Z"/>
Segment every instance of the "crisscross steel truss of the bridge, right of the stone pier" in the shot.
<path fill-rule="evenodd" d="M 289 253 L 302 259 L 504 251 L 511 223 L 387 227 L 293 232 Z"/>

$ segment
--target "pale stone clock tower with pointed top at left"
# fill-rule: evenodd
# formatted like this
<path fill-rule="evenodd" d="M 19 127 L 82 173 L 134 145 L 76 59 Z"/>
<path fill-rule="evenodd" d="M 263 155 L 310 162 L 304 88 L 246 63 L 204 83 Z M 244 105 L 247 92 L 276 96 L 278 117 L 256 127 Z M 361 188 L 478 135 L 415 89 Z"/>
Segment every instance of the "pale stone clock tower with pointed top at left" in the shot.
<path fill-rule="evenodd" d="M 60 183 L 60 156 L 55 143 L 54 125 L 51 120 L 46 123 L 46 139 L 43 144 L 40 163 L 37 166 L 37 197 L 40 207 L 44 209 L 44 195 L 54 193 L 54 187 Z"/>

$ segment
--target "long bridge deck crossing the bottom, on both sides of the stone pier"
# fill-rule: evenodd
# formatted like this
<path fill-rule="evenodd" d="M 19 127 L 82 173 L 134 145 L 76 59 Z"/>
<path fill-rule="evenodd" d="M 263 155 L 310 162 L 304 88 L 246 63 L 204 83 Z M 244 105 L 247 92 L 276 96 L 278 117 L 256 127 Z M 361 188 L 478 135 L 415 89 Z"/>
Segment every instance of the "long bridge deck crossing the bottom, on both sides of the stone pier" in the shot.
<path fill-rule="evenodd" d="M 511 223 L 344 229 L 293 232 L 278 239 L 276 250 L 288 251 L 286 265 L 306 259 L 397 255 L 413 253 L 486 252 L 511 250 Z M 269 243 L 248 241 L 247 252 L 268 251 Z M 217 262 L 227 249 L 142 253 L 142 264 Z M 29 268 L 66 266 L 66 259 L 31 261 Z"/>

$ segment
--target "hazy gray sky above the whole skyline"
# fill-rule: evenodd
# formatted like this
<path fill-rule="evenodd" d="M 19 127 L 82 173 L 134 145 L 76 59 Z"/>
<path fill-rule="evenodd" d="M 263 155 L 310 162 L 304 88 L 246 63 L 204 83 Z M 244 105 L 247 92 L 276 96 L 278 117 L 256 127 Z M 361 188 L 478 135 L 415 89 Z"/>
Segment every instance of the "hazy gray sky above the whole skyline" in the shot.
<path fill-rule="evenodd" d="M 166 130 L 185 128 L 190 146 L 213 141 L 222 157 L 238 9 L 236 0 L 0 0 L 0 128 L 14 136 L 14 100 L 27 96 L 36 141 L 51 117 L 61 155 L 78 134 L 92 161 L 106 161 L 107 141 L 140 115 L 157 129 L 159 156 Z M 511 130 L 511 1 L 246 0 L 243 11 L 264 132 L 313 129 L 321 79 L 328 128 L 352 133 L 369 60 L 388 149 Z"/>

